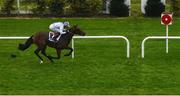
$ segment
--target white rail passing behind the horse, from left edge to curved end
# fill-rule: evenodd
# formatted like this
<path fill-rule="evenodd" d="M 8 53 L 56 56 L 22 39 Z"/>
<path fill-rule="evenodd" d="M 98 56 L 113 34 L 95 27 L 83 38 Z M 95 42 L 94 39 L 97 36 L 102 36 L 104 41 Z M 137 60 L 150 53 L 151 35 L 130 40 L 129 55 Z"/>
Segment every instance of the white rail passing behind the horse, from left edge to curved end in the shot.
<path fill-rule="evenodd" d="M 23 40 L 23 39 L 28 39 L 29 37 L 0 37 L 0 40 Z M 127 43 L 127 58 L 130 57 L 130 43 L 129 43 L 129 40 L 124 37 L 124 36 L 74 36 L 73 39 L 72 39 L 72 48 L 73 50 L 75 51 L 74 49 L 74 40 L 75 39 L 95 39 L 95 38 L 104 38 L 104 39 L 107 39 L 107 38 L 122 38 L 126 41 Z M 72 53 L 72 58 L 75 57 L 74 55 L 74 51 Z"/>

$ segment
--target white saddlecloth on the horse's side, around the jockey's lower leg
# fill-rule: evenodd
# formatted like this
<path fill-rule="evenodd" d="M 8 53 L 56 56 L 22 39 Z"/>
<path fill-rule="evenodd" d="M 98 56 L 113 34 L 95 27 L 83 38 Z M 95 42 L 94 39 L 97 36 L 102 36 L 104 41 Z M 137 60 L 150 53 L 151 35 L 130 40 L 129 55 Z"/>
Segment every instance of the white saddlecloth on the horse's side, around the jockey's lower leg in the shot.
<path fill-rule="evenodd" d="M 49 32 L 49 41 L 57 42 L 60 38 L 59 32 Z"/>

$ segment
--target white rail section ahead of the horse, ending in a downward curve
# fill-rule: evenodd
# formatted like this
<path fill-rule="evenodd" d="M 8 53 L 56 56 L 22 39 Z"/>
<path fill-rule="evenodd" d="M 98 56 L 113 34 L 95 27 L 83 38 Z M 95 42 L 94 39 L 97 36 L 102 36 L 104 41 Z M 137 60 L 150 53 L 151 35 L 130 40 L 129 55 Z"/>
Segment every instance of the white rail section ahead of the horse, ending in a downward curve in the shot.
<path fill-rule="evenodd" d="M 129 40 L 125 36 L 74 36 L 72 39 L 72 48 L 74 49 L 74 39 L 108 39 L 108 38 L 122 38 L 126 41 L 127 43 L 127 58 L 130 57 L 130 43 Z M 72 52 L 72 58 L 75 57 L 74 51 Z"/>

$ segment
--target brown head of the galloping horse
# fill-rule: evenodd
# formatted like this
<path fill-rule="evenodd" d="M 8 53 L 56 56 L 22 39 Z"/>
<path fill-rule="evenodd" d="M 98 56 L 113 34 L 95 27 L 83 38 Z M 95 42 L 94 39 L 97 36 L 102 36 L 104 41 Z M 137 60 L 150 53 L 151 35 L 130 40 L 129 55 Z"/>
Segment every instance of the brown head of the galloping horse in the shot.
<path fill-rule="evenodd" d="M 77 25 L 74 25 L 70 28 L 70 32 L 72 32 L 73 34 L 77 34 L 80 36 L 85 36 L 86 33 L 83 32 Z"/>

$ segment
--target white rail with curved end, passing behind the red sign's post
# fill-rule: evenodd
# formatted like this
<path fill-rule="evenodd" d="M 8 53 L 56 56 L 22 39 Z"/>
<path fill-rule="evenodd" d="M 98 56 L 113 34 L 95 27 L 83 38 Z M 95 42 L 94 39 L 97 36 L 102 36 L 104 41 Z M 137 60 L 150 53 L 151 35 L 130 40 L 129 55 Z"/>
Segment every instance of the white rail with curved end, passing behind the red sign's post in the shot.
<path fill-rule="evenodd" d="M 144 45 L 145 45 L 145 42 L 148 40 L 148 39 L 180 39 L 180 36 L 149 36 L 149 37 L 146 37 L 143 41 L 142 41 L 142 44 L 141 44 L 141 56 L 142 58 L 144 58 Z"/>

